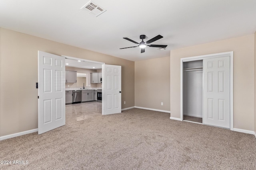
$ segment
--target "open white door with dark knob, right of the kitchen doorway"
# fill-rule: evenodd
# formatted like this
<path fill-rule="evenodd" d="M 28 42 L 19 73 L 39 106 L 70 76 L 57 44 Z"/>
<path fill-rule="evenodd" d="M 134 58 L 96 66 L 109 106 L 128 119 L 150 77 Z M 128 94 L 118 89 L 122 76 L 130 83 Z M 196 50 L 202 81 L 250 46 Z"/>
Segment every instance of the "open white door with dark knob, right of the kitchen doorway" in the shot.
<path fill-rule="evenodd" d="M 102 114 L 121 113 L 121 66 L 102 64 Z"/>

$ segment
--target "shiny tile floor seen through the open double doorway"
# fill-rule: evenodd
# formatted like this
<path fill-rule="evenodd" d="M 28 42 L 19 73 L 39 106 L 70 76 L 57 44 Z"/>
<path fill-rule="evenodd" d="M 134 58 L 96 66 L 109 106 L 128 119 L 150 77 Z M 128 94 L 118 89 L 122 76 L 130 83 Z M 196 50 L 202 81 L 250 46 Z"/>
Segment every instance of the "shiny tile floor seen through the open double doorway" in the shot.
<path fill-rule="evenodd" d="M 86 102 L 66 105 L 66 122 L 81 121 L 102 115 L 102 103 Z"/>

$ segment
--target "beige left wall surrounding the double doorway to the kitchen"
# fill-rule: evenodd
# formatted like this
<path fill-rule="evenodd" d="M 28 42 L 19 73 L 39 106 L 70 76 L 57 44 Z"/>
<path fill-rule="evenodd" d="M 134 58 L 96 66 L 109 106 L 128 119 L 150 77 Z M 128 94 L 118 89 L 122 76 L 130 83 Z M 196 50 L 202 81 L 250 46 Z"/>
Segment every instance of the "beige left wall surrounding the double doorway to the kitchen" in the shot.
<path fill-rule="evenodd" d="M 0 48 L 0 136 L 38 128 L 38 50 L 121 65 L 122 109 L 134 106 L 133 61 L 3 28 Z"/>

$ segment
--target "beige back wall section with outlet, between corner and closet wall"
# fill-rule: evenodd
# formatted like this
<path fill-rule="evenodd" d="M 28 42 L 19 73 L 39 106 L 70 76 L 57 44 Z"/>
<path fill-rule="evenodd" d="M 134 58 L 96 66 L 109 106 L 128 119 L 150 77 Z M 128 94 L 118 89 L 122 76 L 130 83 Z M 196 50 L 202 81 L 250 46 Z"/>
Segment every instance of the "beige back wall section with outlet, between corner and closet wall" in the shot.
<path fill-rule="evenodd" d="M 170 111 L 170 57 L 135 62 L 135 106 Z"/>

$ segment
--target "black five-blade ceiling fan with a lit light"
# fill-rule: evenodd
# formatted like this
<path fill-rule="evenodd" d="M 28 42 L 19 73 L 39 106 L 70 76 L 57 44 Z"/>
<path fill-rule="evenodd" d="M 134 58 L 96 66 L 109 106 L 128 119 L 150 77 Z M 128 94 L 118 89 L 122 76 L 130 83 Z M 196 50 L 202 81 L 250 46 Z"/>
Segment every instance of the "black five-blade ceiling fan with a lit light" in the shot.
<path fill-rule="evenodd" d="M 134 46 L 134 47 L 138 47 L 139 46 L 141 48 L 140 53 L 144 53 L 145 52 L 145 47 L 147 47 L 147 46 L 148 47 L 158 47 L 158 48 L 165 48 L 165 47 L 167 47 L 167 45 L 153 45 L 153 44 L 150 44 L 150 43 L 152 43 L 152 42 L 154 42 L 154 41 L 156 41 L 158 39 L 163 38 L 162 35 L 157 35 L 156 37 L 146 41 L 146 43 L 143 41 L 143 39 L 145 39 L 145 38 L 146 38 L 146 35 L 140 35 L 140 39 L 142 39 L 142 41 L 140 43 L 137 43 L 136 41 L 133 41 L 133 40 L 131 40 L 129 38 L 124 37 L 124 39 L 126 39 L 128 41 L 131 41 L 131 42 L 133 42 L 135 44 L 138 44 L 137 46 Z M 128 49 L 128 48 L 133 48 L 133 47 L 126 47 L 126 48 L 121 48 L 121 49 Z"/>

